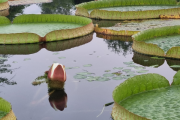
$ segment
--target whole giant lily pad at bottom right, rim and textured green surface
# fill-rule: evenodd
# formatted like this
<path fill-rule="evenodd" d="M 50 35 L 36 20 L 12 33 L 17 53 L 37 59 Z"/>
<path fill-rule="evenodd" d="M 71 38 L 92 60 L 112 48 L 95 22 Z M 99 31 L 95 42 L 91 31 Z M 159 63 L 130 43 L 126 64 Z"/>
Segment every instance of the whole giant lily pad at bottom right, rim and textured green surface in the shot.
<path fill-rule="evenodd" d="M 114 120 L 178 118 L 179 114 L 173 110 L 179 109 L 179 102 L 177 102 L 179 75 L 180 71 L 175 74 L 171 86 L 165 77 L 152 73 L 127 79 L 113 91 L 112 118 Z M 168 111 L 161 110 L 167 108 Z"/>

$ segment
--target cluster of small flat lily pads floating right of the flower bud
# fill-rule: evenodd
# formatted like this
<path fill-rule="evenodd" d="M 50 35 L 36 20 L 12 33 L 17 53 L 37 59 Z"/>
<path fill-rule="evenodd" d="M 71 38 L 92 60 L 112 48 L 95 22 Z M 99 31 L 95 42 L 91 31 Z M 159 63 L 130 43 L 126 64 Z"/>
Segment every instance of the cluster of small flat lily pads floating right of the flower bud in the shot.
<path fill-rule="evenodd" d="M 147 73 L 148 70 L 144 66 L 139 66 L 134 62 L 124 62 L 126 65 L 125 68 L 123 67 L 114 67 L 112 70 L 105 70 L 102 76 L 97 76 L 95 73 L 89 72 L 84 70 L 82 72 L 77 73 L 74 75 L 74 79 L 85 79 L 89 82 L 91 81 L 109 81 L 109 80 L 124 80 L 130 77 L 136 76 L 137 74 Z M 92 64 L 83 65 L 83 67 L 91 67 Z M 156 66 L 152 66 L 156 67 Z M 67 67 L 68 69 L 77 69 L 80 67 Z"/>

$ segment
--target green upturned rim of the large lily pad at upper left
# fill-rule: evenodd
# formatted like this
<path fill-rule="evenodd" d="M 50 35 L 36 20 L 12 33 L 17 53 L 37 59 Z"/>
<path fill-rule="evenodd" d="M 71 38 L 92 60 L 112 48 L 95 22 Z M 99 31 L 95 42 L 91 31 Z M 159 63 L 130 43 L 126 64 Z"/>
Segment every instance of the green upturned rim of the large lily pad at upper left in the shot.
<path fill-rule="evenodd" d="M 82 27 L 73 29 L 54 30 L 41 37 L 35 33 L 0 33 L 0 44 L 26 44 L 38 42 L 51 42 L 81 37 L 94 31 L 92 20 L 80 16 L 61 15 L 61 14 L 27 14 L 15 17 L 13 24 L 28 23 L 75 23 L 82 24 Z M 0 16 L 0 25 L 11 25 L 11 21 Z"/>

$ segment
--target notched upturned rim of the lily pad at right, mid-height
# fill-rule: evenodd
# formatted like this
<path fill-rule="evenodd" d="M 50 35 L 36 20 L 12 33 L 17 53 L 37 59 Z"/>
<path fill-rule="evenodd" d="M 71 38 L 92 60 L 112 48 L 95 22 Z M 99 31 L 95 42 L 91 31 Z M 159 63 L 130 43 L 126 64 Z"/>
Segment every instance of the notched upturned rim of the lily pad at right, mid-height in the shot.
<path fill-rule="evenodd" d="M 146 40 L 156 38 L 156 37 L 180 34 L 179 29 L 180 29 L 180 26 L 167 26 L 167 27 L 149 29 L 149 30 L 139 32 L 132 36 L 133 38 L 132 48 L 134 51 L 143 53 L 143 54 L 179 59 L 180 47 L 172 47 L 165 54 L 164 50 L 162 50 L 156 44 L 145 42 Z"/>

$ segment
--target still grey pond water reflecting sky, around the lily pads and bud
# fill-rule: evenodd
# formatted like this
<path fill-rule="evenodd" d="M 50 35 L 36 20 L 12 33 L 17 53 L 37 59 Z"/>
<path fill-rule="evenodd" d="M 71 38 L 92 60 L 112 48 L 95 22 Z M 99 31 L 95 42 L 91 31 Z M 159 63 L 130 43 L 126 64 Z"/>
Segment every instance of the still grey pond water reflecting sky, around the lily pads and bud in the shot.
<path fill-rule="evenodd" d="M 13 20 L 17 15 L 31 13 L 74 14 L 74 5 L 72 0 L 54 0 L 48 4 L 16 6 L 10 8 L 8 18 Z M 0 96 L 12 104 L 18 120 L 111 120 L 113 105 L 106 107 L 97 116 L 104 104 L 113 101 L 114 88 L 130 74 L 158 73 L 171 83 L 178 69 L 170 66 L 180 64 L 178 60 L 159 60 L 134 53 L 131 46 L 132 40 L 129 38 L 96 33 L 68 41 L 1 45 Z M 69 68 L 66 69 L 67 81 L 64 86 L 67 108 L 63 111 L 55 111 L 51 107 L 46 83 L 32 85 L 54 62 Z M 153 65 L 156 67 L 150 67 Z M 109 79 L 74 78 L 77 73 L 87 71 L 96 77 L 108 73 Z M 123 79 L 113 79 L 109 73 L 122 73 L 124 76 Z"/>

